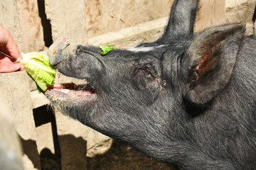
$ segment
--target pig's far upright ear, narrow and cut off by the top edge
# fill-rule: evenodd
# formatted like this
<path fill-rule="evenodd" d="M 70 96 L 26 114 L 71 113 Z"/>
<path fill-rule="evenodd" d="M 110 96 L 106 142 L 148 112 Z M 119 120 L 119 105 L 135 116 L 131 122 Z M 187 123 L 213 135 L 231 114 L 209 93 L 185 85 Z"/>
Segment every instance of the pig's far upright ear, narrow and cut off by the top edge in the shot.
<path fill-rule="evenodd" d="M 174 1 L 163 37 L 192 34 L 197 8 L 198 0 Z"/>

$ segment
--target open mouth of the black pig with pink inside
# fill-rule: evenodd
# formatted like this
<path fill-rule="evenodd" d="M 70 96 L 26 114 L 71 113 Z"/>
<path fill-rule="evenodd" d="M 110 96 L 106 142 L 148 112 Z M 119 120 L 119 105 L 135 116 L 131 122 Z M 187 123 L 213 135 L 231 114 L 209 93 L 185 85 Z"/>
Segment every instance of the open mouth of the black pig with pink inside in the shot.
<path fill-rule="evenodd" d="M 95 101 L 97 98 L 97 91 L 90 84 L 55 84 L 53 86 L 48 86 L 45 94 L 59 99 L 79 99 L 82 101 Z"/>

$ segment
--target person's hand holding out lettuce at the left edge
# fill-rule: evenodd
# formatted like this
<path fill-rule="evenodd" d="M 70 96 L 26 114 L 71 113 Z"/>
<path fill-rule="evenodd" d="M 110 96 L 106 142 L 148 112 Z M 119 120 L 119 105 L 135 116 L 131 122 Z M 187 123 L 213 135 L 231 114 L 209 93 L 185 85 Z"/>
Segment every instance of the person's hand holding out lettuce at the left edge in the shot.
<path fill-rule="evenodd" d="M 9 30 L 3 26 L 0 26 L 0 50 L 11 55 L 15 60 L 21 57 L 18 47 L 11 37 Z M 15 60 L 0 53 L 0 72 L 15 72 L 24 69 L 24 65 L 15 63 Z"/>

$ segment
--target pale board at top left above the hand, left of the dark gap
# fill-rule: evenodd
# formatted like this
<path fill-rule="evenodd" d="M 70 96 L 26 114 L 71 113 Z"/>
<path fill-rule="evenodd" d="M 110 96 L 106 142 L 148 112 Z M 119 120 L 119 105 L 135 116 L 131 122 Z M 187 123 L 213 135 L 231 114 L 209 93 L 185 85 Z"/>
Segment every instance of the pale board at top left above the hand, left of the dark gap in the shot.
<path fill-rule="evenodd" d="M 0 24 L 9 29 L 22 52 L 46 50 L 36 0 L 0 1 Z"/>

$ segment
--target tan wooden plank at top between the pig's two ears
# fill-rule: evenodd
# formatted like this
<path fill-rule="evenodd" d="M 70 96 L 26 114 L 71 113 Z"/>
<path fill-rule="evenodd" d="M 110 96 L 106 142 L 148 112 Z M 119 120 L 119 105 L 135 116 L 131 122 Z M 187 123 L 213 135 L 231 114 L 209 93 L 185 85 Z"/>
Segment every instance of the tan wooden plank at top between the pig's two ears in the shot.
<path fill-rule="evenodd" d="M 201 0 L 199 6 L 196 31 L 225 23 L 225 0 Z"/>

